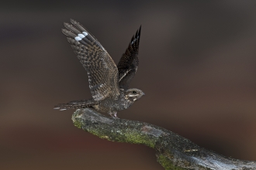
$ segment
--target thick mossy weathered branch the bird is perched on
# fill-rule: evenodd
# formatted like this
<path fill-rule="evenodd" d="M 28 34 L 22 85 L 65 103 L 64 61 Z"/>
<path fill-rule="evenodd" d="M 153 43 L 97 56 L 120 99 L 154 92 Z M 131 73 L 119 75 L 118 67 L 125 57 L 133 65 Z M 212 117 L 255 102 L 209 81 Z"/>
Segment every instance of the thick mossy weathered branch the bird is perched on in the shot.
<path fill-rule="evenodd" d="M 154 148 L 157 162 L 165 169 L 256 169 L 256 162 L 226 158 L 154 124 L 113 119 L 89 108 L 76 110 L 72 121 L 99 138 Z"/>

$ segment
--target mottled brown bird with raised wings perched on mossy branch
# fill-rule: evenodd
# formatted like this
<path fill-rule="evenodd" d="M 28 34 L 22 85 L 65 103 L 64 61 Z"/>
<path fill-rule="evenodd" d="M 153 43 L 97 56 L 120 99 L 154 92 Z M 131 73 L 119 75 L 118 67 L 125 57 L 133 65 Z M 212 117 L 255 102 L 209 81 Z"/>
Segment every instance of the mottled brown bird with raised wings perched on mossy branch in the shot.
<path fill-rule="evenodd" d="M 92 107 L 113 118 L 118 118 L 117 111 L 128 109 L 145 95 L 142 90 L 129 88 L 130 81 L 135 76 L 139 65 L 141 26 L 132 36 L 129 46 L 116 66 L 106 49 L 92 33 L 88 32 L 88 29 L 74 19 L 71 19 L 70 22 L 64 22 L 65 29 L 61 30 L 67 36 L 67 42 L 71 44 L 74 53 L 88 73 L 92 98 L 57 104 L 54 109 Z"/>

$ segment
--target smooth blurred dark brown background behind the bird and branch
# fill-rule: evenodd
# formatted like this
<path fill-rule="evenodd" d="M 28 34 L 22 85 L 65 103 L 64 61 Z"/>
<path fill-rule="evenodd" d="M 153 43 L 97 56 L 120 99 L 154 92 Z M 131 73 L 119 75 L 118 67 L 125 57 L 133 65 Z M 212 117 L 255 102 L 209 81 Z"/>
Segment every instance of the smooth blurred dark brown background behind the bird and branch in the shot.
<path fill-rule="evenodd" d="M 256 161 L 256 2 L 8 1 L 0 6 L 1 169 L 163 169 L 154 150 L 99 139 L 55 104 L 91 97 L 61 33 L 75 19 L 117 63 L 142 25 L 131 87 L 145 121 L 222 155 Z"/>

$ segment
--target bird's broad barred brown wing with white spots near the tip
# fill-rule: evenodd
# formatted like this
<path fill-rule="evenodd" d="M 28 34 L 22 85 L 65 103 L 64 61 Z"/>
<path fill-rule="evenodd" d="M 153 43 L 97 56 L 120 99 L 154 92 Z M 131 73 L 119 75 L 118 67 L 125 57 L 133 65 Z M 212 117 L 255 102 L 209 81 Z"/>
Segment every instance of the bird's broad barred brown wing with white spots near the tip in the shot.
<path fill-rule="evenodd" d="M 118 70 L 116 64 L 90 32 L 79 22 L 71 19 L 71 24 L 64 22 L 62 29 L 74 53 L 88 73 L 89 87 L 94 100 L 119 96 Z"/>

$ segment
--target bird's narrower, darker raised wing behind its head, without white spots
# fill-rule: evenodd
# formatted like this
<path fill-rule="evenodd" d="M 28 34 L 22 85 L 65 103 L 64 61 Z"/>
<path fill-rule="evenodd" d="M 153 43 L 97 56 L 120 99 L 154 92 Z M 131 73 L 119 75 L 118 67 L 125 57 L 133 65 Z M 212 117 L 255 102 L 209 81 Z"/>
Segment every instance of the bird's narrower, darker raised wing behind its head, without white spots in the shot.
<path fill-rule="evenodd" d="M 140 29 L 138 29 L 135 36 L 132 37 L 126 49 L 126 53 L 123 54 L 117 65 L 119 71 L 119 88 L 123 90 L 128 89 L 130 81 L 133 79 L 133 76 L 135 76 L 139 66 Z"/>

